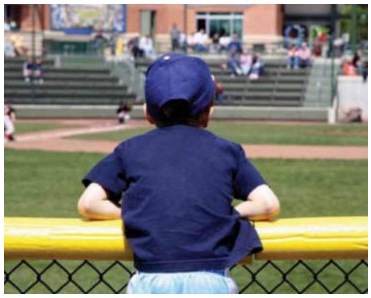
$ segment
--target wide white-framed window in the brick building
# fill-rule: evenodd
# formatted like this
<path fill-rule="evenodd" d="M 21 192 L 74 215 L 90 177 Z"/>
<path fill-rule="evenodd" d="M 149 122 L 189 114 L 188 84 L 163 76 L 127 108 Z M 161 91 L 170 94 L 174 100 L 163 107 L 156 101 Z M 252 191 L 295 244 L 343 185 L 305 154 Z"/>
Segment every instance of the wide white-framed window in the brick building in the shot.
<path fill-rule="evenodd" d="M 205 29 L 205 32 L 212 37 L 215 33 L 219 36 L 226 34 L 231 36 L 236 33 L 242 38 L 243 15 L 242 12 L 202 12 L 197 13 L 197 30 Z"/>

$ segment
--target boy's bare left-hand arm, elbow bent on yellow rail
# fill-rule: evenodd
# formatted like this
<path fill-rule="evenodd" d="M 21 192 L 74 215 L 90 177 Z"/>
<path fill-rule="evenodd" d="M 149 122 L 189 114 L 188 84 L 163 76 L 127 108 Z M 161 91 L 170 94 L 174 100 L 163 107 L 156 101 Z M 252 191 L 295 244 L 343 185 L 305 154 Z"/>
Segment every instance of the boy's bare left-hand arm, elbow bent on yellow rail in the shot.
<path fill-rule="evenodd" d="M 107 199 L 107 193 L 97 183 L 91 183 L 82 193 L 78 204 L 78 212 L 89 219 L 119 219 L 121 208 Z"/>

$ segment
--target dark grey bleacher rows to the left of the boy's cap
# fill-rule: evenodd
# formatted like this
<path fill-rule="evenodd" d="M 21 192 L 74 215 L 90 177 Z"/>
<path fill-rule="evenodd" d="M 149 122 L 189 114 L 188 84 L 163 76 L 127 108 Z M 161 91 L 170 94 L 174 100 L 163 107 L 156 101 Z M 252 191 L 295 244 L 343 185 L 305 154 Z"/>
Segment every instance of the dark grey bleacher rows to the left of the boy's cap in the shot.
<path fill-rule="evenodd" d="M 24 81 L 24 62 L 20 58 L 4 60 L 4 97 L 14 104 L 117 105 L 135 98 L 106 67 L 56 67 L 54 59 L 44 59 L 44 83 L 37 84 Z"/>

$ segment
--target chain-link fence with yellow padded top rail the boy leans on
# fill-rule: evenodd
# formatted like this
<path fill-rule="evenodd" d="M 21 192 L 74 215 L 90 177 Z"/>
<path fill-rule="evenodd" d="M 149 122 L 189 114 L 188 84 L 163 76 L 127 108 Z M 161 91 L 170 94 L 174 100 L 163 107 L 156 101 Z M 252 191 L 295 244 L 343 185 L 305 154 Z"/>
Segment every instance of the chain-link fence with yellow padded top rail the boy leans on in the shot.
<path fill-rule="evenodd" d="M 264 251 L 231 268 L 240 293 L 367 293 L 367 217 L 256 222 Z M 115 221 L 5 218 L 4 292 L 124 293 L 132 251 Z"/>

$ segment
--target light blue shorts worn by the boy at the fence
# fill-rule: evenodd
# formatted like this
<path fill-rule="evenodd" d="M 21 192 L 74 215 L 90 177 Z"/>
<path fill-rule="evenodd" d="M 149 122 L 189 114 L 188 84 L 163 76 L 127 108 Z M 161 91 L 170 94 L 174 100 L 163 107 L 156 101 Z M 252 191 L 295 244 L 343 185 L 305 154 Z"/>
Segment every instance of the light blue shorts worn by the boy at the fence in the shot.
<path fill-rule="evenodd" d="M 128 294 L 238 294 L 228 269 L 180 273 L 136 272 Z"/>

